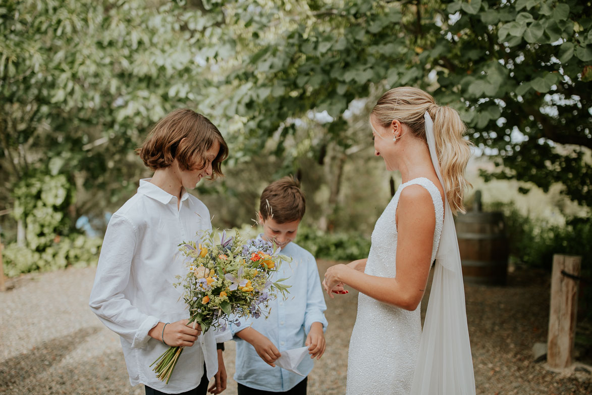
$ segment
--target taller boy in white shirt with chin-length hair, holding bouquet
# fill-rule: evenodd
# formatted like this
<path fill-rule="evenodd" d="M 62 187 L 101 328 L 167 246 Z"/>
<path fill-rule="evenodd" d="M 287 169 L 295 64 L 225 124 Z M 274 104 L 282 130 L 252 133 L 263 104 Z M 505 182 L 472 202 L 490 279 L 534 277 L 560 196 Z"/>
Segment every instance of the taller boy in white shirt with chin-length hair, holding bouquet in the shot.
<path fill-rule="evenodd" d="M 186 325 L 182 290 L 173 283 L 184 274 L 179 243 L 211 229 L 208 208 L 187 190 L 222 175 L 228 148 L 208 118 L 184 109 L 160 120 L 138 153 L 154 175 L 141 179 L 137 194 L 111 217 L 89 305 L 120 335 L 132 386 L 144 384 L 147 395 L 205 395 L 215 375 L 209 391 L 218 394 L 226 370 L 217 334 Z M 169 346 L 185 349 L 165 384 L 150 364 Z"/>

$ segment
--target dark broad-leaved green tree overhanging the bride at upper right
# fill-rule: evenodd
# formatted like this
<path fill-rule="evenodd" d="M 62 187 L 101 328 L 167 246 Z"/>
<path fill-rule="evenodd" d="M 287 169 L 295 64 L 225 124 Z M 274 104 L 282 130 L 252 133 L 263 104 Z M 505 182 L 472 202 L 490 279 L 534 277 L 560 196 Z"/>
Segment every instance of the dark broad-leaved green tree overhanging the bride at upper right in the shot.
<path fill-rule="evenodd" d="M 456 107 L 478 147 L 497 158 L 498 171 L 484 176 L 543 190 L 562 182 L 572 200 L 592 206 L 589 1 L 249 7 L 257 7 L 256 15 L 226 14 L 227 25 L 242 27 L 234 40 L 242 62 L 229 73 L 233 94 L 223 108 L 244 120 L 243 153 L 280 131 L 280 155 L 285 136 L 295 133 L 294 118 L 310 110 L 332 117 L 324 140 L 310 147 L 314 156 L 321 160 L 327 144 L 345 153 L 363 133 L 343 116 L 354 99 L 373 101 L 384 89 L 414 85 Z"/>

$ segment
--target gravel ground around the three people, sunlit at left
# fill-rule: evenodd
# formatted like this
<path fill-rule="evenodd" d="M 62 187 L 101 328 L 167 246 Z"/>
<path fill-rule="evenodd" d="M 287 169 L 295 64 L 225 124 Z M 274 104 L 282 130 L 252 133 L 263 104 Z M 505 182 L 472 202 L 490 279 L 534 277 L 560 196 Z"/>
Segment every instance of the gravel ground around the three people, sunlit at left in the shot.
<path fill-rule="evenodd" d="M 333 263 L 320 261 L 321 275 Z M 0 293 L 0 394 L 144 393 L 130 387 L 118 336 L 87 306 L 94 274 L 69 268 L 9 281 L 13 288 Z M 533 361 L 533 344 L 546 342 L 548 299 L 546 275 L 514 273 L 506 287 L 466 285 L 478 394 L 592 394 L 589 367 L 559 374 Z M 327 352 L 309 376 L 309 394 L 345 393 L 356 306 L 355 291 L 327 300 Z M 234 343 L 226 345 L 231 376 Z M 236 394 L 231 377 L 224 393 Z"/>

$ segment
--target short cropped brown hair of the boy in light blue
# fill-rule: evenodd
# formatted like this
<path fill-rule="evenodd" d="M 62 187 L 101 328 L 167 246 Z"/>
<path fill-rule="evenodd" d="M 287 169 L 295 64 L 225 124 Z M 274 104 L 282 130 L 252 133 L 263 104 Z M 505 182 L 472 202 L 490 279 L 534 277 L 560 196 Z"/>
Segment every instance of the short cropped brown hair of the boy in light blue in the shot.
<path fill-rule="evenodd" d="M 299 221 L 304 217 L 306 200 L 300 183 L 285 176 L 269 184 L 259 200 L 259 213 L 263 220 L 273 218 L 277 223 Z"/>

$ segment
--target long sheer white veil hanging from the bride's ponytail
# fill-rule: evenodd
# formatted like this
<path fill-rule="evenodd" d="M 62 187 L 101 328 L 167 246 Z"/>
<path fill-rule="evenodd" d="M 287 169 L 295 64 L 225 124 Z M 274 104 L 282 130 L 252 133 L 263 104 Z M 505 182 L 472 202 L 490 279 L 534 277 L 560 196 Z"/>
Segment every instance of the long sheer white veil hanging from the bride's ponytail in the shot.
<path fill-rule="evenodd" d="M 432 163 L 442 188 L 445 188 L 436 156 L 434 124 L 427 111 L 424 118 Z M 444 225 L 413 375 L 412 395 L 475 394 L 461 256 L 446 191 L 444 196 Z"/>

